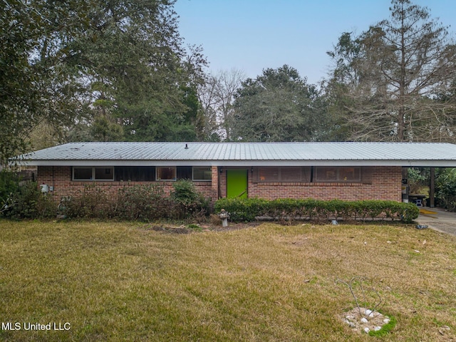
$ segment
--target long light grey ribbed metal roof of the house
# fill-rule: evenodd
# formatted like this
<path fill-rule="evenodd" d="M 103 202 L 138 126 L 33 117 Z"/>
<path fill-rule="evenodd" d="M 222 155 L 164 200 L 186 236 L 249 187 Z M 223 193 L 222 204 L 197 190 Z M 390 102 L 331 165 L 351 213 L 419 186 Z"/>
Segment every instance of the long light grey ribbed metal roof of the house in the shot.
<path fill-rule="evenodd" d="M 432 142 L 71 142 L 18 157 L 25 165 L 395 165 L 456 167 L 456 145 Z"/>

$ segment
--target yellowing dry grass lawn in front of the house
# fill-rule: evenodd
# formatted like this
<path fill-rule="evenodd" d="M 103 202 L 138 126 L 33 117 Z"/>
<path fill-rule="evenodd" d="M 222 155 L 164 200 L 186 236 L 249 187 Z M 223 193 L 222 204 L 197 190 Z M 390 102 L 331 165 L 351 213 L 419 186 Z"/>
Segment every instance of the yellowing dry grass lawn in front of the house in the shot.
<path fill-rule="evenodd" d="M 0 341 L 456 341 L 455 247 L 411 225 L 0 221 Z M 353 276 L 397 319 L 387 336 L 341 321 Z"/>

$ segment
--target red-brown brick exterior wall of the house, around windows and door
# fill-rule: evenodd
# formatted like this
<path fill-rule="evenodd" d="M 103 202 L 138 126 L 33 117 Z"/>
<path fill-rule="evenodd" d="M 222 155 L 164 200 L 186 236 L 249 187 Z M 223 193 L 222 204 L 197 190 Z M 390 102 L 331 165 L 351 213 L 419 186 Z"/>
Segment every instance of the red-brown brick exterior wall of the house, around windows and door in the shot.
<path fill-rule="evenodd" d="M 227 195 L 227 168 L 212 167 L 212 182 L 195 182 L 197 190 L 212 203 Z M 361 182 L 254 182 L 250 168 L 248 172 L 249 197 L 315 198 L 315 199 L 390 199 L 402 200 L 402 167 L 362 167 Z M 118 190 L 123 187 L 150 182 L 74 182 L 71 181 L 71 167 L 38 166 L 38 184 L 53 187 L 53 196 L 60 201 L 63 196 L 77 196 L 86 185 L 96 185 L 109 198 L 115 200 Z M 165 194 L 172 191 L 172 182 L 157 182 Z"/>

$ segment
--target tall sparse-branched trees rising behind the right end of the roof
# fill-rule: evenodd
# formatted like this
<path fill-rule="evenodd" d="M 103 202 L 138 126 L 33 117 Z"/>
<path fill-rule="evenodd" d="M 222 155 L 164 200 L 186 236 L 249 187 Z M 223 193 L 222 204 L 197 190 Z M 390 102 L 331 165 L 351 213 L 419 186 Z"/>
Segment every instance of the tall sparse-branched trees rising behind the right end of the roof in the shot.
<path fill-rule="evenodd" d="M 409 0 L 360 36 L 343 33 L 329 56 L 327 91 L 348 140 L 454 140 L 456 48 L 447 28 Z"/>

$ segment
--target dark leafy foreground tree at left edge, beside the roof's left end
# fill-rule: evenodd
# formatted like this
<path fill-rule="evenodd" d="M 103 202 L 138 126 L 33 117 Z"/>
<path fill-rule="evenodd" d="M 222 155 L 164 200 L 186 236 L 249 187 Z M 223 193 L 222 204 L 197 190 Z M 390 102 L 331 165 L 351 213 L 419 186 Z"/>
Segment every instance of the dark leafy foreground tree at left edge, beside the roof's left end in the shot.
<path fill-rule="evenodd" d="M 31 130 L 43 120 L 68 122 L 76 113 L 71 77 L 56 46 L 76 36 L 83 21 L 68 15 L 79 1 L 4 1 L 0 11 L 0 162 L 28 150 Z M 76 8 L 76 7 L 75 7 Z M 71 84 L 72 83 L 72 84 Z M 68 105 L 63 102 L 68 100 Z"/>

